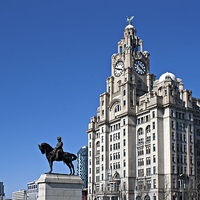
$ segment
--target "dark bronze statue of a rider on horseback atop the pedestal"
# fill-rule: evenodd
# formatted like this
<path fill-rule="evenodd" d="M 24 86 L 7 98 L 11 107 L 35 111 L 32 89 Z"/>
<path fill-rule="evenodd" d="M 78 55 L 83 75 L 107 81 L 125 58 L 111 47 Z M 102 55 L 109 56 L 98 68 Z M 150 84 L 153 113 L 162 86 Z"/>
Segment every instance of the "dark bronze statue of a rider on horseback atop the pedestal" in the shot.
<path fill-rule="evenodd" d="M 63 161 L 63 163 L 65 163 L 69 167 L 70 175 L 74 175 L 75 170 L 72 161 L 76 160 L 77 156 L 73 153 L 63 151 L 63 143 L 60 136 L 57 137 L 57 140 L 58 144 L 55 148 L 52 148 L 49 144 L 45 142 L 38 145 L 41 153 L 46 154 L 46 158 L 49 162 L 50 171 L 48 173 L 51 173 L 53 170 L 53 161 Z"/>

